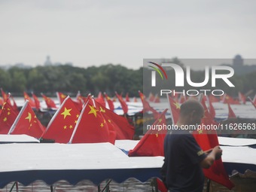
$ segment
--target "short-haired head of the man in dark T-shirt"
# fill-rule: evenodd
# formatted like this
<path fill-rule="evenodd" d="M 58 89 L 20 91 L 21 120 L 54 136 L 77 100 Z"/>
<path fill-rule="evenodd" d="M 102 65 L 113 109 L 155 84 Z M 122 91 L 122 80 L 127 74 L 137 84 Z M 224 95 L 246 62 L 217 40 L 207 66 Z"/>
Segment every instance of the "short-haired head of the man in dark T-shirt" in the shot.
<path fill-rule="evenodd" d="M 189 99 L 181 105 L 179 123 L 196 125 L 201 123 L 203 118 L 203 105 L 195 99 Z"/>

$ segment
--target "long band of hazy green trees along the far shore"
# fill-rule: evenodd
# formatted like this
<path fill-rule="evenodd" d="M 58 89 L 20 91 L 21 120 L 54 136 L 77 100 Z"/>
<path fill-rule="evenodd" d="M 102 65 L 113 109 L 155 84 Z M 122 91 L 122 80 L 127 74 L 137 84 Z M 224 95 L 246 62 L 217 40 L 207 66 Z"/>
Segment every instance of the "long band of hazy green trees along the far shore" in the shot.
<path fill-rule="evenodd" d="M 172 61 L 173 62 L 173 61 Z M 178 63 L 182 66 L 181 63 Z M 184 66 L 182 66 L 184 67 Z M 138 90 L 142 90 L 145 95 L 148 93 L 159 93 L 162 88 L 169 87 L 176 90 L 191 90 L 184 84 L 184 87 L 174 87 L 175 73 L 173 70 L 166 71 L 168 81 L 163 81 L 160 75 L 156 75 L 157 87 L 151 87 L 151 69 L 127 69 L 121 65 L 103 65 L 90 66 L 87 68 L 62 65 L 62 66 L 36 66 L 31 69 L 21 69 L 12 67 L 8 70 L 0 69 L 0 87 L 6 92 L 12 93 L 13 96 L 23 96 L 23 91 L 28 93 L 40 94 L 47 96 L 56 96 L 56 91 L 75 96 L 78 90 L 82 95 L 92 93 L 95 96 L 99 91 L 114 96 L 117 93 L 129 93 L 130 96 L 139 96 Z M 191 81 L 203 82 L 205 78 L 204 71 L 191 71 Z M 256 90 L 255 83 L 256 72 L 250 72 L 245 75 L 233 75 L 230 81 L 235 87 L 227 86 L 224 81 L 220 81 L 215 89 L 224 90 L 232 96 L 237 96 L 238 91 L 242 93 L 254 94 Z M 211 90 L 211 84 L 206 84 L 204 89 Z M 197 88 L 199 90 L 200 87 Z"/>

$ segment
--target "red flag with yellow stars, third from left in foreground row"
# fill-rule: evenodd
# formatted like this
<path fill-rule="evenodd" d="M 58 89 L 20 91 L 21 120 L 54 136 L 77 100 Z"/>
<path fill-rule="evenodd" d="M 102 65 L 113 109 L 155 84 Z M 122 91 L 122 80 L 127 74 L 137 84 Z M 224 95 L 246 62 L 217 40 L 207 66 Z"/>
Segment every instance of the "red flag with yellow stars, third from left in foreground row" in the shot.
<path fill-rule="evenodd" d="M 80 111 L 72 99 L 67 96 L 48 123 L 47 130 L 42 138 L 53 139 L 58 143 L 68 143 L 79 115 Z"/>

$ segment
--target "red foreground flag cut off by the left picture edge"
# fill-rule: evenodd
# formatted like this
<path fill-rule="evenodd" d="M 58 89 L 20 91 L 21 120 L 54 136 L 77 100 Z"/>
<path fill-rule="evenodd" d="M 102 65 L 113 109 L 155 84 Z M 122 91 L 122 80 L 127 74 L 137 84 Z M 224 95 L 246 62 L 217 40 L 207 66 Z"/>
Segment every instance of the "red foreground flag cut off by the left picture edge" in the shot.
<path fill-rule="evenodd" d="M 14 123 L 18 113 L 10 105 L 9 102 L 5 102 L 2 106 L 2 113 L 0 114 L 0 134 L 8 134 L 11 126 Z"/>

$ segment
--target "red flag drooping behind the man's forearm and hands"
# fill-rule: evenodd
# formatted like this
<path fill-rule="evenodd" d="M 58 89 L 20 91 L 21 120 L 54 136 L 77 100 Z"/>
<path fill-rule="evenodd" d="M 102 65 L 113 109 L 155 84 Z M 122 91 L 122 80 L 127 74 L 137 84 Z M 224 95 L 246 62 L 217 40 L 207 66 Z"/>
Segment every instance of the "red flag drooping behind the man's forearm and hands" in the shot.
<path fill-rule="evenodd" d="M 202 100 L 202 105 L 205 108 L 205 117 L 202 119 L 204 125 L 214 125 L 216 124 L 215 120 L 212 119 L 212 116 L 209 114 L 209 111 L 206 108 L 206 103 Z M 193 133 L 194 138 L 196 139 L 200 148 L 203 151 L 208 151 L 211 148 L 218 146 L 218 136 L 215 130 L 211 130 L 206 133 L 206 130 L 197 130 Z M 230 181 L 222 160 L 215 160 L 212 166 L 209 169 L 203 169 L 204 175 L 206 178 L 209 178 L 212 181 L 222 184 L 223 186 L 231 189 L 234 187 L 234 184 Z"/>

